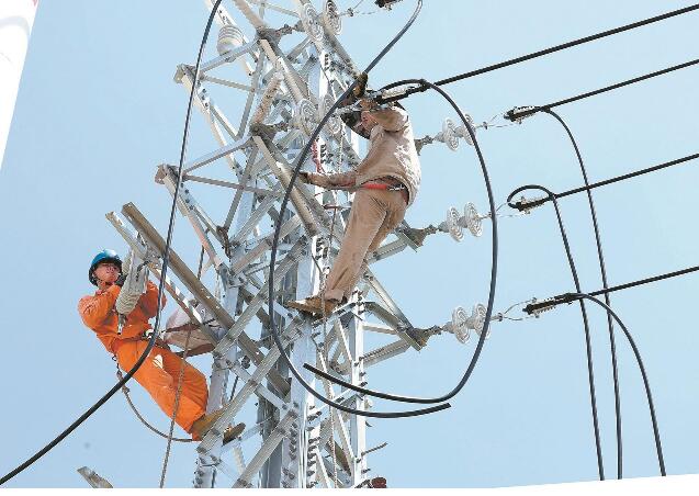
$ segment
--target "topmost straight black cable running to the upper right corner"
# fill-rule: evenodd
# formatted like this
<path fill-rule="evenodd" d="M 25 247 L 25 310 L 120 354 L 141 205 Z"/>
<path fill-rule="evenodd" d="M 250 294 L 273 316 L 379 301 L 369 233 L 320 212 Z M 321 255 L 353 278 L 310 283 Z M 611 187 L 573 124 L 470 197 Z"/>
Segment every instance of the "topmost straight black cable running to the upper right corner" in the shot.
<path fill-rule="evenodd" d="M 505 60 L 505 61 L 501 61 L 501 63 L 498 63 L 498 64 L 494 64 L 492 66 L 482 67 L 480 69 L 475 69 L 475 70 L 472 70 L 472 71 L 469 71 L 469 72 L 464 72 L 462 75 L 452 76 L 451 78 L 447 78 L 447 79 L 442 79 L 440 81 L 437 81 L 436 84 L 437 86 L 443 86 L 443 84 L 449 84 L 449 83 L 454 82 L 454 81 L 460 81 L 462 79 L 473 78 L 475 76 L 480 76 L 480 75 L 483 75 L 483 74 L 486 74 L 486 72 L 491 72 L 493 70 L 501 69 L 504 67 L 512 66 L 515 64 L 520 64 L 522 61 L 531 60 L 532 58 L 538 58 L 538 57 L 542 57 L 544 55 L 553 54 L 554 52 L 560 52 L 562 49 L 572 48 L 574 46 L 582 45 L 582 44 L 589 43 L 589 42 L 594 42 L 596 40 L 600 40 L 600 38 L 604 38 L 606 36 L 611 36 L 613 34 L 623 33 L 624 31 L 630 31 L 630 30 L 634 30 L 636 27 L 641 27 L 641 26 L 644 26 L 644 25 L 653 24 L 655 22 L 664 21 L 666 19 L 674 18 L 676 15 L 686 14 L 686 13 L 692 12 L 692 11 L 695 11 L 697 9 L 699 9 L 699 3 L 694 4 L 694 5 L 689 5 L 689 7 L 685 7 L 684 9 L 674 10 L 672 12 L 667 12 L 667 13 L 664 13 L 664 14 L 661 14 L 661 15 L 656 15 L 654 18 L 649 18 L 649 19 L 645 19 L 643 21 L 636 21 L 634 23 L 627 24 L 624 26 L 615 27 L 615 29 L 608 30 L 608 31 L 602 31 L 601 33 L 593 34 L 590 36 L 585 36 L 583 38 L 575 40 L 575 41 L 572 41 L 572 42 L 567 42 L 567 43 L 564 43 L 562 45 L 556 45 L 556 46 L 552 46 L 550 48 L 544 48 L 542 50 L 534 52 L 532 54 L 522 55 L 520 57 L 512 58 L 512 59 L 509 59 L 509 60 Z M 406 92 L 404 92 L 404 93 L 402 93 L 399 95 L 388 98 L 388 99 L 386 99 L 384 101 L 388 102 L 388 101 L 402 100 L 402 99 L 404 99 L 404 98 L 406 98 L 406 97 L 408 97 L 408 95 L 410 95 L 413 93 L 421 92 L 421 91 L 425 91 L 425 90 L 427 90 L 427 88 L 424 88 L 424 87 L 411 88 L 411 89 L 407 90 Z"/>

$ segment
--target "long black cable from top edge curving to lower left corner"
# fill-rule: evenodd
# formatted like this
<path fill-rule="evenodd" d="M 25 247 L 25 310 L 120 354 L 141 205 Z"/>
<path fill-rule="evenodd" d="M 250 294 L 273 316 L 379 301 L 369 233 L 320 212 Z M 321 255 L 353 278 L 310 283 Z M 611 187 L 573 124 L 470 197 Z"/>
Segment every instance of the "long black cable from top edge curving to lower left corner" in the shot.
<path fill-rule="evenodd" d="M 189 124 L 190 124 L 190 116 L 191 116 L 191 112 L 192 112 L 192 102 L 193 102 L 193 99 L 194 99 L 194 91 L 196 91 L 196 82 L 199 80 L 199 68 L 200 68 L 202 55 L 204 53 L 204 46 L 206 45 L 206 40 L 208 38 L 208 32 L 211 31 L 211 25 L 212 25 L 212 23 L 214 21 L 214 16 L 216 15 L 216 11 L 218 10 L 218 5 L 221 4 L 221 2 L 222 2 L 222 0 L 216 0 L 216 3 L 212 8 L 211 15 L 208 16 L 208 22 L 206 23 L 206 29 L 204 30 L 204 36 L 203 36 L 202 43 L 201 43 L 200 48 L 199 48 L 199 56 L 196 58 L 196 68 L 195 68 L 195 71 L 194 71 L 194 81 L 192 83 L 192 91 L 190 93 L 190 100 L 189 100 L 189 104 L 188 104 L 188 108 L 187 108 L 187 117 L 184 120 L 184 135 L 182 136 L 182 147 L 181 147 L 181 150 L 180 150 L 180 166 L 179 166 L 179 169 L 178 169 L 178 181 L 177 181 L 177 185 L 174 187 L 174 196 L 172 199 L 172 207 L 170 210 L 170 222 L 168 224 L 168 236 L 167 236 L 167 241 L 166 241 L 166 245 L 165 245 L 165 251 L 162 253 L 162 269 L 160 271 L 161 272 L 160 273 L 160 284 L 158 285 L 158 304 L 156 306 L 156 308 L 157 308 L 156 309 L 156 323 L 155 323 L 155 326 L 154 326 L 154 329 L 153 329 L 153 335 L 150 336 L 150 339 L 148 340 L 148 346 L 146 346 L 146 349 L 144 350 L 143 354 L 138 358 L 138 360 L 136 361 L 134 367 L 126 373 L 126 375 L 124 375 L 124 379 L 119 381 L 104 396 L 102 396 L 84 414 L 82 414 L 80 417 L 78 417 L 78 419 L 76 421 L 74 421 L 70 426 L 68 426 L 68 428 L 66 430 L 64 430 L 60 435 L 58 435 L 53 441 L 50 441 L 48 444 L 46 444 L 44 448 L 42 448 L 40 451 L 37 451 L 33 456 L 31 456 L 24 463 L 19 465 L 16 469 L 14 469 L 13 471 L 11 471 L 7 475 L 4 475 L 2 478 L 0 478 L 0 485 L 2 485 L 5 482 L 10 481 L 15 475 L 18 475 L 20 472 L 24 471 L 30 465 L 32 465 L 34 462 L 36 462 L 38 459 L 41 459 L 44 454 L 46 454 L 54 447 L 56 447 L 60 441 L 63 441 L 66 437 L 68 437 L 68 435 L 70 435 L 70 432 L 72 432 L 76 428 L 78 428 L 78 426 L 80 426 L 80 424 L 82 424 L 84 420 L 87 420 L 102 405 L 104 405 L 104 403 L 106 403 L 106 401 L 109 398 L 111 398 L 114 395 L 114 393 L 116 393 L 119 390 L 121 390 L 122 386 L 124 384 L 126 384 L 128 382 L 128 380 L 136 373 L 136 371 L 138 371 L 138 369 L 144 363 L 144 361 L 146 360 L 146 358 L 150 353 L 150 350 L 153 350 L 153 347 L 156 343 L 156 339 L 158 337 L 158 327 L 160 326 L 160 311 L 161 311 L 160 306 L 161 306 L 161 303 L 162 303 L 162 293 L 164 293 L 164 290 L 165 290 L 165 279 L 166 279 L 166 275 L 167 275 L 168 263 L 169 263 L 169 260 L 170 260 L 170 258 L 169 258 L 169 256 L 170 256 L 170 243 L 172 240 L 172 232 L 173 232 L 173 228 L 174 228 L 174 213 L 177 211 L 177 200 L 178 200 L 178 195 L 179 195 L 179 191 L 180 191 L 180 184 L 182 182 L 181 178 L 182 178 L 182 169 L 183 169 L 183 166 L 184 166 L 184 157 L 187 155 L 187 140 L 188 140 L 188 136 L 189 136 Z"/>

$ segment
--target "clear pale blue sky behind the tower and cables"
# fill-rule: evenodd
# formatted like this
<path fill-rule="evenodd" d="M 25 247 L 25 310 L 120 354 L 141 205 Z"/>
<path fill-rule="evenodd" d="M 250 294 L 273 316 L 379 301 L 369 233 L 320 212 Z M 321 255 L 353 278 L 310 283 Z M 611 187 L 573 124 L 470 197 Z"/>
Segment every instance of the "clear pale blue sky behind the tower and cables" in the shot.
<path fill-rule="evenodd" d="M 315 2 L 319 3 L 319 2 Z M 341 1 L 342 8 L 354 2 Z M 364 10 L 372 2 L 364 1 Z M 689 1 L 560 2 L 426 1 L 406 36 L 372 72 L 374 87 L 407 77 L 440 79 L 606 29 L 689 5 Z M 340 40 L 360 66 L 413 11 L 345 19 Z M 233 10 L 233 7 L 228 4 Z M 0 448 L 3 474 L 43 447 L 114 382 L 114 363 L 78 316 L 90 292 L 89 262 L 103 247 L 125 250 L 104 218 L 133 201 L 164 233 L 170 196 L 153 181 L 156 167 L 176 162 L 187 94 L 172 82 L 177 64 L 193 63 L 206 20 L 202 1 L 64 0 L 40 4 L 13 127 L 0 169 Z M 697 58 L 699 14 L 521 64 L 446 87 L 476 122 L 515 105 L 544 104 Z M 215 54 L 211 43 L 208 55 Z M 699 68 L 566 105 L 593 181 L 697 153 Z M 436 94 L 405 103 L 418 136 L 455 117 Z M 235 109 L 233 109 L 235 111 Z M 234 115 L 238 115 L 234 113 Z M 481 129 L 498 203 L 515 188 L 540 183 L 563 191 L 582 183 L 562 127 L 546 115 L 521 126 Z M 214 147 L 199 115 L 190 153 Z M 486 208 L 473 148 L 443 145 L 421 155 L 422 187 L 408 222 L 440 222 L 467 201 Z M 697 162 L 618 183 L 595 193 L 611 284 L 697 264 Z M 583 288 L 600 286 L 585 198 L 562 201 Z M 507 213 L 507 210 L 504 208 Z M 190 227 L 178 218 L 176 248 L 195 253 Z M 495 309 L 573 289 L 551 205 L 499 223 Z M 449 320 L 456 305 L 485 302 L 491 225 L 480 239 L 428 238 L 376 272 L 414 324 Z M 695 329 L 699 275 L 620 292 L 612 305 L 628 325 L 651 380 L 669 474 L 699 472 Z M 167 311 L 172 311 L 170 304 Z M 613 396 L 606 317 L 589 308 L 605 466 L 616 476 Z M 518 314 L 517 316 L 520 316 Z M 618 332 L 624 474 L 657 475 L 641 376 Z M 597 477 L 579 309 L 565 306 L 540 319 L 493 326 L 475 372 L 452 408 L 428 417 L 370 420 L 372 474 L 392 487 L 492 487 Z M 463 373 L 474 340 L 451 335 L 422 352 L 370 370 L 370 386 L 408 395 L 443 394 Z M 194 363 L 207 373 L 207 359 Z M 137 384 L 144 414 L 168 421 Z M 375 402 L 386 410 L 394 405 Z M 117 487 L 157 487 L 166 443 L 146 430 L 120 395 L 8 487 L 84 487 L 88 465 Z M 168 487 L 189 487 L 194 447 L 174 447 Z"/>

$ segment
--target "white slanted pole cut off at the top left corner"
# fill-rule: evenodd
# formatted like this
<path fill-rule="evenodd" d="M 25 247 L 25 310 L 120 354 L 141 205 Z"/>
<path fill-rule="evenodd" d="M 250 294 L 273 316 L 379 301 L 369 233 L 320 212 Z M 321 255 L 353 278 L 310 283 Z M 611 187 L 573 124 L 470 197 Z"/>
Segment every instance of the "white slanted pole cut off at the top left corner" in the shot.
<path fill-rule="evenodd" d="M 38 0 L 0 0 L 0 167 Z"/>

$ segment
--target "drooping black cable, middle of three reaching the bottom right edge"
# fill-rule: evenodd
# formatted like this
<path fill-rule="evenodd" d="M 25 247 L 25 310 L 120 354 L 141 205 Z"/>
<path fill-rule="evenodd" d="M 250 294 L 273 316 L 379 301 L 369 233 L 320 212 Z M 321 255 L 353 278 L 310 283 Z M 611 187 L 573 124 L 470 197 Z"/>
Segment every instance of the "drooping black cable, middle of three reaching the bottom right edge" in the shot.
<path fill-rule="evenodd" d="M 575 149 L 575 155 L 577 156 L 577 161 L 580 166 L 580 171 L 583 173 L 583 179 L 585 181 L 585 185 L 589 187 L 589 180 L 587 179 L 587 170 L 585 168 L 585 161 L 583 160 L 583 155 L 580 154 L 580 149 L 577 146 L 577 142 L 571 132 L 571 128 L 567 126 L 565 121 L 552 111 L 551 109 L 544 109 L 543 112 L 548 113 L 552 117 L 554 117 L 563 128 L 565 129 L 571 143 L 573 144 L 573 148 Z M 607 283 L 607 269 L 605 267 L 605 255 L 602 252 L 601 245 L 601 236 L 599 234 L 599 226 L 597 224 L 597 212 L 595 211 L 595 201 L 593 200 L 593 193 L 588 189 L 587 190 L 587 201 L 589 204 L 590 216 L 593 217 L 593 228 L 595 230 L 595 244 L 597 245 L 597 259 L 599 261 L 599 272 L 601 274 L 602 286 L 605 289 L 609 288 Z M 611 306 L 611 301 L 609 298 L 609 294 L 605 294 L 605 303 L 608 306 Z M 616 435 L 617 435 L 617 478 L 623 478 L 623 446 L 622 446 L 622 437 L 621 437 L 621 399 L 619 394 L 619 370 L 617 368 L 617 343 L 615 342 L 615 326 L 612 323 L 611 315 L 607 313 L 607 326 L 609 329 L 609 348 L 611 354 L 611 369 L 612 376 L 615 383 L 615 418 L 616 418 Z"/>

